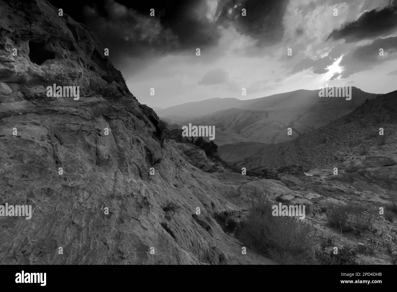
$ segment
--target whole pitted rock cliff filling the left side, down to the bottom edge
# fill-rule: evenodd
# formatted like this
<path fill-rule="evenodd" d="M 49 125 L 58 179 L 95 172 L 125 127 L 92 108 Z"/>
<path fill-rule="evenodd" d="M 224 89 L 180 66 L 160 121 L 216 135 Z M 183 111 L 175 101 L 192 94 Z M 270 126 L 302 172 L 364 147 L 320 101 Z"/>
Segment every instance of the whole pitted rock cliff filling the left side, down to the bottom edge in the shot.
<path fill-rule="evenodd" d="M 0 204 L 33 211 L 0 217 L 3 264 L 274 263 L 242 255 L 212 216 L 280 185 L 200 170 L 223 171 L 164 139 L 96 37 L 48 2 L 0 2 L 0 26 Z M 47 97 L 53 83 L 80 86 L 80 99 Z"/>

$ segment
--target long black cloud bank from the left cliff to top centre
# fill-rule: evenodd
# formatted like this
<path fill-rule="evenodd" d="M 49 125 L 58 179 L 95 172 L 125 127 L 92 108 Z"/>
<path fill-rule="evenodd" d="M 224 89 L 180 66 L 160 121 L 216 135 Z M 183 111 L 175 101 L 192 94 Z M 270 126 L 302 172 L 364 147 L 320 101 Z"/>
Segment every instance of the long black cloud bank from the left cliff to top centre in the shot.
<path fill-rule="evenodd" d="M 195 54 L 196 48 L 216 47 L 222 28 L 229 25 L 257 39 L 258 46 L 274 44 L 283 36 L 282 19 L 289 2 L 218 0 L 215 10 L 206 0 L 82 0 L 73 5 L 50 1 L 90 27 L 119 67 L 127 66 L 128 57 Z M 247 16 L 241 15 L 242 8 Z"/>

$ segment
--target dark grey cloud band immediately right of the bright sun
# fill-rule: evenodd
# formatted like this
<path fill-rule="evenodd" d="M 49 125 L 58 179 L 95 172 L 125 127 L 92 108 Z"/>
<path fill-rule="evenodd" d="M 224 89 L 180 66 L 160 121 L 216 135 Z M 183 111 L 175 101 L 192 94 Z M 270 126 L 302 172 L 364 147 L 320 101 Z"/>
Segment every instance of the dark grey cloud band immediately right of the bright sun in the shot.
<path fill-rule="evenodd" d="M 379 49 L 384 50 L 384 56 L 380 56 Z M 397 37 L 376 39 L 371 44 L 359 46 L 343 56 L 339 66 L 343 67 L 341 78 L 371 69 L 373 66 L 397 59 Z"/>

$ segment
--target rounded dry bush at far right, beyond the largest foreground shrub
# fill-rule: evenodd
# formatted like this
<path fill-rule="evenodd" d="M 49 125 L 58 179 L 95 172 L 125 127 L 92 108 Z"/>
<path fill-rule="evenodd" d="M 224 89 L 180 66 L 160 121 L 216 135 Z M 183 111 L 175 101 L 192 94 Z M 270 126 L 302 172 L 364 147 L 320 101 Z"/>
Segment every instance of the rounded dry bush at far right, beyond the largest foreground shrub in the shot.
<path fill-rule="evenodd" d="M 376 220 L 376 213 L 366 212 L 364 205 L 328 205 L 327 219 L 328 224 L 340 228 L 342 232 L 359 229 L 368 230 Z"/>

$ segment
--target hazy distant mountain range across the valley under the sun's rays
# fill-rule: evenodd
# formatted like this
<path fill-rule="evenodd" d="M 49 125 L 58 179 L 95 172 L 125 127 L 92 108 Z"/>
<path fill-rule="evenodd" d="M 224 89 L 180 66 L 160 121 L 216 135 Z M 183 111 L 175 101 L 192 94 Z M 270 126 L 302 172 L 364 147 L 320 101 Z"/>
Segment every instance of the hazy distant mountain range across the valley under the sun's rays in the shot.
<path fill-rule="evenodd" d="M 352 87 L 352 98 L 319 97 L 318 90 L 297 90 L 259 99 L 209 99 L 167 108 L 157 114 L 170 123 L 215 126 L 215 143 L 274 144 L 294 139 L 287 128 L 303 134 L 353 111 L 378 94 Z M 222 108 L 221 110 L 218 110 Z M 296 136 L 295 136 L 296 137 Z"/>

